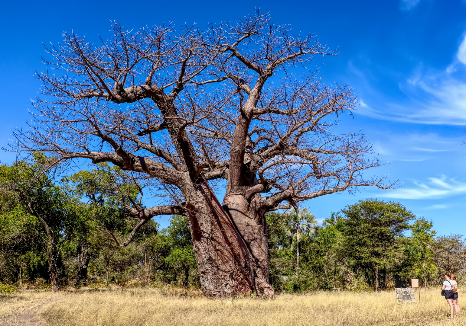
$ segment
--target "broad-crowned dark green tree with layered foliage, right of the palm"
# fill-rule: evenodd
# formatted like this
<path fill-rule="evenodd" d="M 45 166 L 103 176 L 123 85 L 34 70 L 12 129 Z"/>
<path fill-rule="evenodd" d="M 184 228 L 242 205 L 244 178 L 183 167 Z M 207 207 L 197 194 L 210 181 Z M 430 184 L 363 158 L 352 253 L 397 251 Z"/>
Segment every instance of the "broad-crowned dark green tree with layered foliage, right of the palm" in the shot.
<path fill-rule="evenodd" d="M 416 216 L 398 202 L 374 199 L 360 200 L 342 212 L 345 217 L 340 255 L 351 259 L 356 271 L 363 271 L 369 286 L 373 272 L 378 291 L 379 269 L 382 267 L 385 274 L 386 266 L 400 259 L 404 251 L 400 237 Z"/>

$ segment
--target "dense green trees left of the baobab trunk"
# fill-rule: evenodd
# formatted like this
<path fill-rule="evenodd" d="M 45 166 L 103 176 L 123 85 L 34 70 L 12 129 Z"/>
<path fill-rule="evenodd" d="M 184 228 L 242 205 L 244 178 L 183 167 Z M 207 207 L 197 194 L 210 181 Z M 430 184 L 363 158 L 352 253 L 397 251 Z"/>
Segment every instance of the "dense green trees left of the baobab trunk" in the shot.
<path fill-rule="evenodd" d="M 185 217 L 172 216 L 163 230 L 150 220 L 118 246 L 135 226 L 122 197 L 127 191 L 136 200 L 135 185 L 115 187 L 122 174 L 106 163 L 54 183 L 41 164 L 48 159 L 0 166 L 0 282 L 46 283 L 54 291 L 132 280 L 199 285 Z"/>

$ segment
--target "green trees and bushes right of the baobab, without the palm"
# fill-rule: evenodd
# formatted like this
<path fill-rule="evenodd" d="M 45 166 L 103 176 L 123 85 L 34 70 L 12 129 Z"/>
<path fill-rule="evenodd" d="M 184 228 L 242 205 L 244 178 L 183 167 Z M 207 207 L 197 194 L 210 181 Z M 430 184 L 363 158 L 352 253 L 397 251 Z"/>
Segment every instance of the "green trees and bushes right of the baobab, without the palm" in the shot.
<path fill-rule="evenodd" d="M 296 273 L 297 250 L 290 250 L 291 241 L 285 235 L 288 217 L 270 213 L 270 282 L 279 291 L 364 291 L 375 290 L 376 284 L 379 289 L 393 288 L 396 275 L 404 284 L 419 278 L 424 286 L 438 286 L 448 271 L 464 283 L 462 236 L 435 237 L 432 221 L 419 218 L 409 224 L 413 219 L 411 211 L 399 203 L 373 199 L 331 213 L 315 227 L 313 237 L 302 237 Z"/>

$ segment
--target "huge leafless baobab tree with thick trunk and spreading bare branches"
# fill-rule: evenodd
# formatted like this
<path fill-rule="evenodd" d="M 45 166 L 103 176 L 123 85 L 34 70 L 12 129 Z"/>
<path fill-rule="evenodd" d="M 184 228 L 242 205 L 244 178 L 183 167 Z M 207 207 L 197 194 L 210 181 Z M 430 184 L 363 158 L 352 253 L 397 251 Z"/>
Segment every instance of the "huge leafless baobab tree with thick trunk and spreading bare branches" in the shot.
<path fill-rule="evenodd" d="M 121 246 L 153 216 L 185 215 L 207 296 L 273 296 L 267 212 L 358 186 L 387 188 L 363 177 L 380 164 L 367 157 L 364 136 L 332 132 L 357 106 L 351 89 L 306 68 L 336 50 L 290 30 L 256 13 L 206 32 L 115 23 L 112 38 L 96 43 L 64 33 L 48 47 L 50 70 L 38 73 L 45 97 L 13 149 L 139 174 L 163 205 L 131 205 L 140 223 Z M 223 203 L 215 186 L 226 186 Z"/>

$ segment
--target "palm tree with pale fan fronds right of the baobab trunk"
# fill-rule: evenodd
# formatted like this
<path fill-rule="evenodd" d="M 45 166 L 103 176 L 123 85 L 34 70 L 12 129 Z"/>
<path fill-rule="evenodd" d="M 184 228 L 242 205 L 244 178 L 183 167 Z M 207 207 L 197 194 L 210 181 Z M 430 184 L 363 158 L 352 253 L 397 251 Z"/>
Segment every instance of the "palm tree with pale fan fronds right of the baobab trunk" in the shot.
<path fill-rule="evenodd" d="M 288 214 L 288 225 L 286 228 L 286 235 L 287 237 L 291 237 L 290 250 L 293 250 L 293 247 L 296 243 L 296 273 L 298 273 L 299 268 L 299 242 L 301 241 L 303 234 L 306 234 L 311 237 L 314 235 L 315 224 L 317 224 L 315 215 L 309 212 L 307 208 L 301 208 L 300 210 L 291 208 L 290 213 Z"/>

